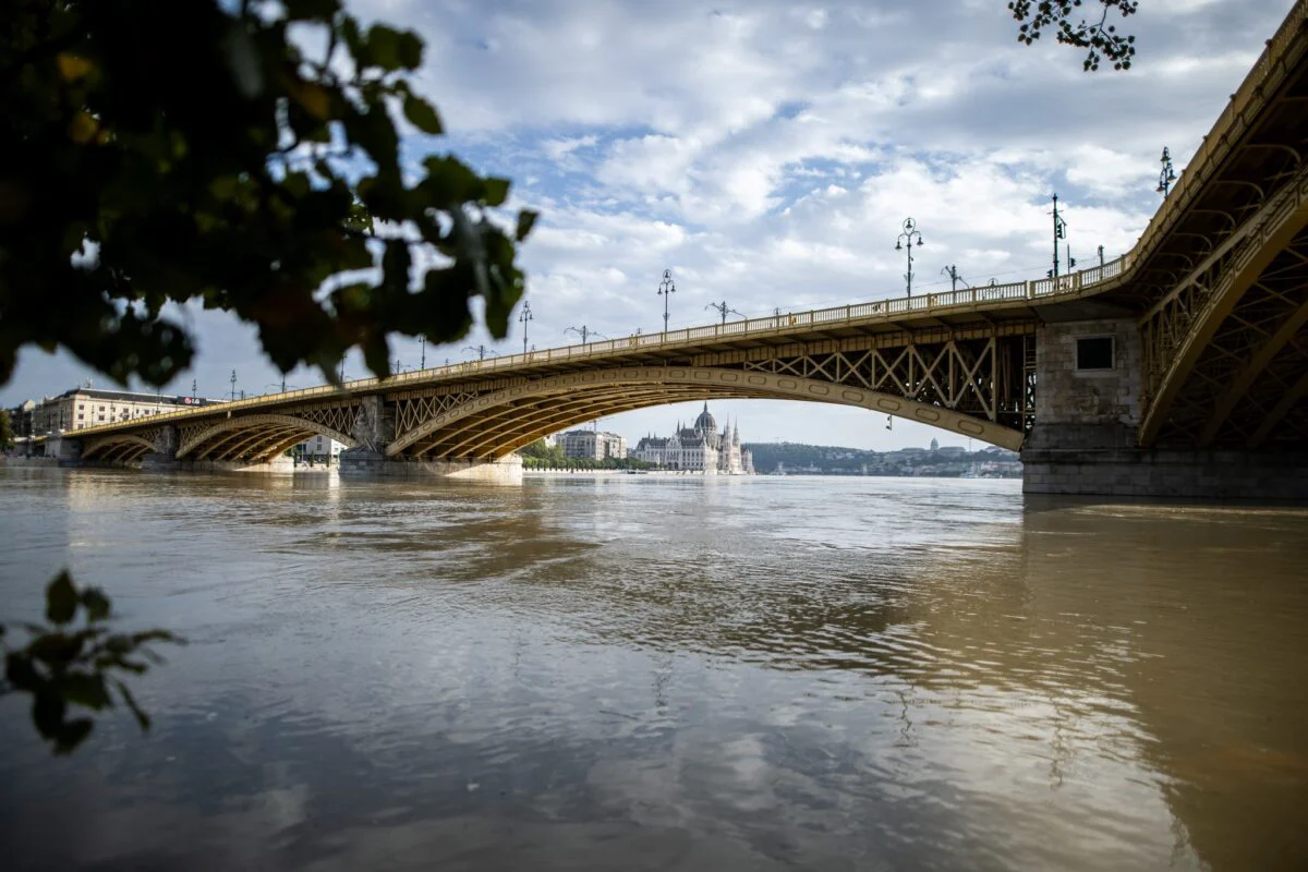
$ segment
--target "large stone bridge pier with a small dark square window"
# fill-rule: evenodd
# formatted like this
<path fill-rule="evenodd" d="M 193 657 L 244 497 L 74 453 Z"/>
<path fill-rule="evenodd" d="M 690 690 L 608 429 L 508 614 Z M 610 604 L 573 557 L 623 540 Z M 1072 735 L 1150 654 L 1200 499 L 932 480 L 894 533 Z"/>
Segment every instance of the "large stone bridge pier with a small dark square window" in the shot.
<path fill-rule="evenodd" d="M 1138 316 L 1044 323 L 1023 492 L 1308 499 L 1303 452 L 1139 442 L 1147 404 Z"/>

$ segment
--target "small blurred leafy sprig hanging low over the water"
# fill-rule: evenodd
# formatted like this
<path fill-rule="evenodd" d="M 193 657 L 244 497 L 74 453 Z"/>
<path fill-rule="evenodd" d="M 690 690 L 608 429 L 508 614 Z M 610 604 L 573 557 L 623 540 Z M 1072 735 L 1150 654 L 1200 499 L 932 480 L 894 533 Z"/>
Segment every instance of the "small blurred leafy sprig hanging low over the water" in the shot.
<path fill-rule="evenodd" d="M 152 642 L 182 642 L 166 630 L 110 633 L 110 612 L 109 597 L 99 590 L 77 590 L 68 573 L 60 573 L 46 588 L 46 620 L 51 626 L 26 625 L 31 635 L 27 645 L 5 650 L 0 696 L 31 694 L 33 724 L 58 754 L 73 750 L 93 726 L 89 716 L 73 716 L 69 706 L 102 711 L 114 705 L 115 693 L 141 729 L 149 729 L 150 719 L 136 705 L 123 676 L 141 675 L 152 662 L 161 662 L 148 647 Z M 78 613 L 84 616 L 80 625 Z M 3 625 L 0 642 L 5 642 Z"/>

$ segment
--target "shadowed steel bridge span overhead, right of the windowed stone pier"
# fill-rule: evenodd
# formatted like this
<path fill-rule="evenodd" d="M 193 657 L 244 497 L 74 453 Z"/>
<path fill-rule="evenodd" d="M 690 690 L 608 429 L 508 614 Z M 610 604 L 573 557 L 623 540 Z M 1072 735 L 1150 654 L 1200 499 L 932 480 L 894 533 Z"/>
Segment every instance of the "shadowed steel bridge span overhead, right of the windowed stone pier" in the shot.
<path fill-rule="evenodd" d="M 1143 309 L 1144 447 L 1308 446 L 1303 21 L 1300 7 L 1205 140 L 1165 239 L 1118 294 Z"/>

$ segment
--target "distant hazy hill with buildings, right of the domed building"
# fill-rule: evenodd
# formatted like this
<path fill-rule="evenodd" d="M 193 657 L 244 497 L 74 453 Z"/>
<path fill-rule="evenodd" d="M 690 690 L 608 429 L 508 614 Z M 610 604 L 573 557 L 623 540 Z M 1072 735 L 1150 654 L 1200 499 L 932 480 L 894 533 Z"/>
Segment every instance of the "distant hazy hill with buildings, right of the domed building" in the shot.
<path fill-rule="evenodd" d="M 972 452 L 956 446 L 938 450 L 867 451 L 798 442 L 748 442 L 744 447 L 753 454 L 753 468 L 760 475 L 774 473 L 780 467 L 783 473 L 790 475 L 982 478 L 1022 476 L 1018 454 L 993 446 Z"/>

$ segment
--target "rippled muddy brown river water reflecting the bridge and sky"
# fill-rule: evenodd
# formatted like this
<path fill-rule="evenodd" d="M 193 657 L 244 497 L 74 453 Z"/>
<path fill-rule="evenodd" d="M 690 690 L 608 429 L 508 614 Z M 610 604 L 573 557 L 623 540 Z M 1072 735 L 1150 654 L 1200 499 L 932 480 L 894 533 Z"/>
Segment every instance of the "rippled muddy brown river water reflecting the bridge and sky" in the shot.
<path fill-rule="evenodd" d="M 192 645 L 51 761 L 8 868 L 1295 868 L 1308 512 L 1016 482 L 0 471 Z M 69 830 L 69 821 L 76 826 Z M 72 833 L 72 834 L 71 834 Z"/>

